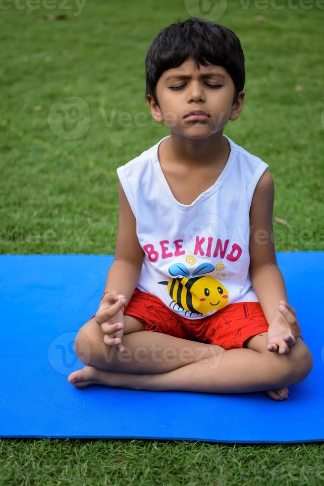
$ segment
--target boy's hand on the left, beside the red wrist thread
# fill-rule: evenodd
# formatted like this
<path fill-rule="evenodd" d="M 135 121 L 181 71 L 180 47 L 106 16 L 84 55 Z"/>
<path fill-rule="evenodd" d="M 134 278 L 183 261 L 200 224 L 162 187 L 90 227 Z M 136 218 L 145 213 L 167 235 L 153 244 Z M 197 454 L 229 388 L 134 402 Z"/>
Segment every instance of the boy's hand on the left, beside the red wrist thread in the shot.
<path fill-rule="evenodd" d="M 126 303 L 124 296 L 118 296 L 117 292 L 110 291 L 103 297 L 99 309 L 95 315 L 95 321 L 100 325 L 104 336 L 104 343 L 115 346 L 118 351 L 124 351 L 121 338 L 124 333 L 123 305 Z M 118 327 L 121 327 L 118 330 Z"/>

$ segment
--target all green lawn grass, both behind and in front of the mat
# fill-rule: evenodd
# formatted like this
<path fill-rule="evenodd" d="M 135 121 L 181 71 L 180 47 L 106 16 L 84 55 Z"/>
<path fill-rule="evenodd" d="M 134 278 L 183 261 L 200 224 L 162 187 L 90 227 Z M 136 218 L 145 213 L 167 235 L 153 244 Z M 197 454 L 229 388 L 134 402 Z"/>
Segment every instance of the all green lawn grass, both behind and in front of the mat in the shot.
<path fill-rule="evenodd" d="M 323 10 L 281 3 L 260 10 L 253 1 L 247 9 L 228 1 L 218 19 L 241 39 L 247 73 L 243 112 L 225 133 L 270 166 L 276 250 L 324 250 Z M 10 4 L 0 12 L 0 253 L 112 254 L 116 168 L 169 133 L 150 118 L 145 127 L 135 122 L 139 112 L 150 115 L 145 54 L 164 26 L 190 15 L 171 0 L 88 1 L 78 16 L 71 2 L 71 11 Z M 68 18 L 39 18 L 62 13 Z M 75 140 L 48 123 L 67 97 L 90 110 L 89 129 Z M 109 119 L 112 110 L 107 126 L 103 113 Z M 122 112 L 131 114 L 128 127 L 117 121 Z M 0 440 L 0 451 L 5 486 L 324 481 L 316 443 L 12 439 Z"/>

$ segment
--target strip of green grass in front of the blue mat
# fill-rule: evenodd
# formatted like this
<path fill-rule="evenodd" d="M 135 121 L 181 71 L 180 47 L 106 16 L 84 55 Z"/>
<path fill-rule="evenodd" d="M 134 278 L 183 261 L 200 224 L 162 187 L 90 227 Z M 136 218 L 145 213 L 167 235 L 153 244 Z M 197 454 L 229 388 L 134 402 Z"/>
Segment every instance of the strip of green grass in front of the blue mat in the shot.
<path fill-rule="evenodd" d="M 1 485 L 322 485 L 316 444 L 29 439 L 0 442 Z"/>

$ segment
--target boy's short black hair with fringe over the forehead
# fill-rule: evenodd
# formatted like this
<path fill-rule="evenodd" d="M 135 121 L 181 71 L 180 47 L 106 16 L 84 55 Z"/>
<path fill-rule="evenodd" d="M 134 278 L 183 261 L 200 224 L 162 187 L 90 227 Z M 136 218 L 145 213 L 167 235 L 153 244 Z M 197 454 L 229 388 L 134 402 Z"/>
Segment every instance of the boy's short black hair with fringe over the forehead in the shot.
<path fill-rule="evenodd" d="M 199 17 L 171 24 L 156 36 L 145 57 L 145 99 L 151 95 L 159 102 L 156 86 L 163 72 L 193 58 L 197 68 L 208 63 L 224 67 L 234 86 L 233 104 L 245 83 L 244 54 L 239 38 L 233 31 Z"/>

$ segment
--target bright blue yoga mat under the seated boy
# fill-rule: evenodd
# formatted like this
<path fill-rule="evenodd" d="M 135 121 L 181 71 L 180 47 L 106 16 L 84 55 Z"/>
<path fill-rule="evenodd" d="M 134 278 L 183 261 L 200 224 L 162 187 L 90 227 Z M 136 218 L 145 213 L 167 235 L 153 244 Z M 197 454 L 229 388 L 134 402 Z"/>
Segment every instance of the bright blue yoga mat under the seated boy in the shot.
<path fill-rule="evenodd" d="M 324 440 L 324 252 L 277 252 L 314 367 L 289 398 L 265 392 L 138 391 L 67 376 L 84 366 L 79 328 L 97 311 L 112 255 L 0 255 L 1 437 L 103 437 L 212 442 Z"/>

